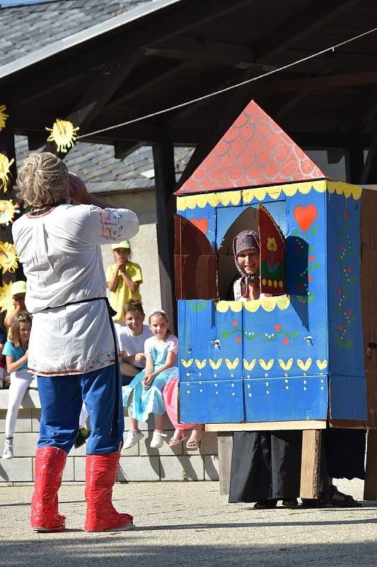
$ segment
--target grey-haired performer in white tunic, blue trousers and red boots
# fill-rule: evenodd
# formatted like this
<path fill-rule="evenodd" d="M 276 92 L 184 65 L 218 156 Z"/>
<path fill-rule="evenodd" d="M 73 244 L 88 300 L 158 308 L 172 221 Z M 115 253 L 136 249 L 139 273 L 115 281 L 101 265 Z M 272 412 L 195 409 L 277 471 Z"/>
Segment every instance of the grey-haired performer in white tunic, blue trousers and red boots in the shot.
<path fill-rule="evenodd" d="M 132 516 L 112 507 L 124 430 L 120 374 L 99 245 L 133 237 L 137 215 L 110 208 L 57 156 L 32 154 L 18 172 L 18 194 L 30 207 L 13 225 L 33 314 L 28 369 L 41 403 L 31 524 L 61 532 L 57 491 L 79 430 L 84 402 L 91 420 L 86 455 L 88 532 L 129 529 Z M 72 198 L 81 203 L 71 204 Z"/>

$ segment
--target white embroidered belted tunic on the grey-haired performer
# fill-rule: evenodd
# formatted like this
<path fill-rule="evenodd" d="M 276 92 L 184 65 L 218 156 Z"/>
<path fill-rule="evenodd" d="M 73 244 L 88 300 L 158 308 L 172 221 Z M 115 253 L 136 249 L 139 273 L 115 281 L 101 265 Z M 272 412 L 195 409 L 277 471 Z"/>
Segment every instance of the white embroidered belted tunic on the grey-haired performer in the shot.
<path fill-rule="evenodd" d="M 34 374 L 82 374 L 114 362 L 105 301 L 62 305 L 105 297 L 99 245 L 131 238 L 138 230 L 131 210 L 91 205 L 61 205 L 13 224 L 27 279 L 25 305 L 33 314 L 28 368 Z"/>

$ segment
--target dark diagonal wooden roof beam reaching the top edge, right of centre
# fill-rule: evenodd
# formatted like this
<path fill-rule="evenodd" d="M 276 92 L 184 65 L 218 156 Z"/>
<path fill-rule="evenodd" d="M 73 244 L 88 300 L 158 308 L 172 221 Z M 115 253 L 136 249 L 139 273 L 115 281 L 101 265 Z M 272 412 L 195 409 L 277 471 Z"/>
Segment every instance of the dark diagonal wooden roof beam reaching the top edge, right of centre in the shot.
<path fill-rule="evenodd" d="M 360 0 L 314 0 L 291 20 L 282 23 L 271 33 L 253 45 L 256 62 L 271 62 L 274 57 L 292 45 L 308 38 L 325 24 L 330 23 Z"/>

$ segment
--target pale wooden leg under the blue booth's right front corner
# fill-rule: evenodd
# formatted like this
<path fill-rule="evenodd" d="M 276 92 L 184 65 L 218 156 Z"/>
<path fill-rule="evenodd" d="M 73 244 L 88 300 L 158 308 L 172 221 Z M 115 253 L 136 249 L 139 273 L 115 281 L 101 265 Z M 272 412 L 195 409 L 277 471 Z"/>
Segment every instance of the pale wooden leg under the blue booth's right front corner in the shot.
<path fill-rule="evenodd" d="M 319 498 L 320 495 L 320 430 L 303 431 L 301 458 L 301 498 Z"/>

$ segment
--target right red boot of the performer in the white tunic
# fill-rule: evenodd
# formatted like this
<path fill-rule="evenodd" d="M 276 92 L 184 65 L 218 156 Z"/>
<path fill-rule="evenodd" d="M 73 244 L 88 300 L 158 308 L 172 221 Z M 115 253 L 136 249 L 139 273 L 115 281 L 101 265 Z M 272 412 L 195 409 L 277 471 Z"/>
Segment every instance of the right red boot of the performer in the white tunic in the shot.
<path fill-rule="evenodd" d="M 86 532 L 124 531 L 134 527 L 133 517 L 120 514 L 111 503 L 120 454 L 86 455 Z"/>

